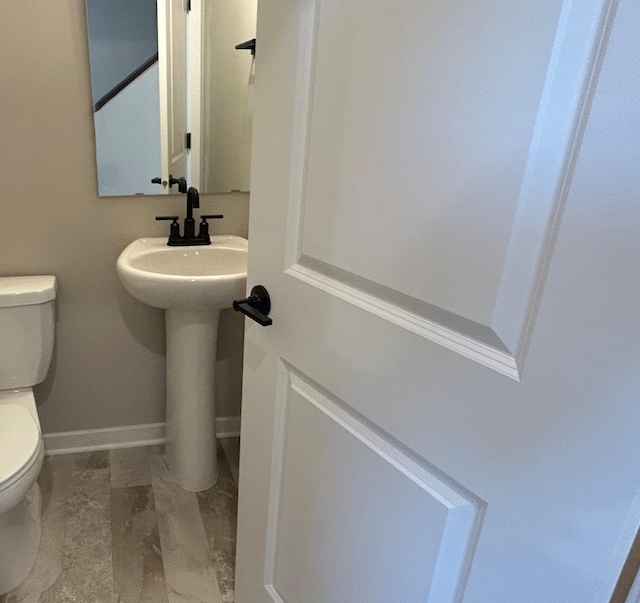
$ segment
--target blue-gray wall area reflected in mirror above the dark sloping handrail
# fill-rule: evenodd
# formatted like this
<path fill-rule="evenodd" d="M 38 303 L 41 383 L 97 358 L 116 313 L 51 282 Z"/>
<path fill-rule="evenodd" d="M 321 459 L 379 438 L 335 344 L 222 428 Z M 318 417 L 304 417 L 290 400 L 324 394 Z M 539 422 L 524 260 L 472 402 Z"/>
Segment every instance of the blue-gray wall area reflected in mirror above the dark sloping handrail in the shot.
<path fill-rule="evenodd" d="M 87 0 L 93 102 L 158 52 L 156 0 Z"/>

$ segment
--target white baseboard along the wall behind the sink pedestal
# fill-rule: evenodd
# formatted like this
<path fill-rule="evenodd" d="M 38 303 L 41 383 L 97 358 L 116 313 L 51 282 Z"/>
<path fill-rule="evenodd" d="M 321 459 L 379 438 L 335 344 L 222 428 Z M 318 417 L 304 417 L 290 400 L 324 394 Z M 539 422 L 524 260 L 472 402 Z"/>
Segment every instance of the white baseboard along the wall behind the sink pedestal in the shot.
<path fill-rule="evenodd" d="M 150 425 L 126 425 L 107 429 L 87 429 L 63 433 L 44 434 L 44 447 L 47 456 L 112 450 L 115 448 L 135 448 L 164 444 L 164 423 Z M 240 417 L 218 417 L 216 436 L 232 438 L 240 435 Z"/>

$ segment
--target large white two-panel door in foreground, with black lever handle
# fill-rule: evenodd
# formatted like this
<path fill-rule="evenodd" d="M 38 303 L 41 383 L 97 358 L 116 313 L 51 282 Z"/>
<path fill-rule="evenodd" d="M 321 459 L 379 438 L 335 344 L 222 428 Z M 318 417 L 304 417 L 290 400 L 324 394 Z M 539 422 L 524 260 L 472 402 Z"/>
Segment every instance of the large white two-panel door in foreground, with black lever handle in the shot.
<path fill-rule="evenodd" d="M 260 4 L 238 603 L 609 600 L 640 520 L 639 19 Z"/>

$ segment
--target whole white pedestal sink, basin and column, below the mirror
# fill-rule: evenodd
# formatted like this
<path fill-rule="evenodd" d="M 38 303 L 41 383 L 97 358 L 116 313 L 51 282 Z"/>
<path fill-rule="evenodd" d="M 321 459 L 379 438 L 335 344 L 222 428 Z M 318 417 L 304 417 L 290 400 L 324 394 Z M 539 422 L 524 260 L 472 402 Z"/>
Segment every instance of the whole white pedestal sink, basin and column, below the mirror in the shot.
<path fill-rule="evenodd" d="M 167 443 L 165 457 L 187 490 L 218 476 L 214 366 L 222 308 L 245 297 L 247 240 L 212 236 L 211 245 L 168 247 L 138 239 L 118 258 L 122 284 L 139 301 L 166 310 Z"/>

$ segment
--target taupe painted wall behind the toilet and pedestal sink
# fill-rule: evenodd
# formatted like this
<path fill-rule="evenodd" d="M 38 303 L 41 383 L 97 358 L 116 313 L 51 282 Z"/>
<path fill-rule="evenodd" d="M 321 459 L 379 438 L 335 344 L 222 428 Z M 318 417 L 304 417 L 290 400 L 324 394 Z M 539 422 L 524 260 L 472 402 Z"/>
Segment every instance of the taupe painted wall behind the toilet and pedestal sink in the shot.
<path fill-rule="evenodd" d="M 55 274 L 57 343 L 36 388 L 47 433 L 164 419 L 164 320 L 118 282 L 120 251 L 161 236 L 165 196 L 98 197 L 83 0 L 3 3 L 0 274 Z M 9 177 L 10 176 L 10 177 Z M 212 232 L 247 234 L 247 195 L 203 195 Z M 242 317 L 223 312 L 218 414 L 240 408 Z"/>

